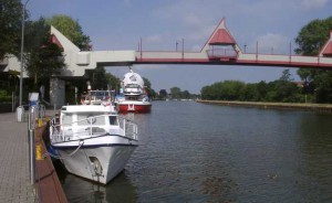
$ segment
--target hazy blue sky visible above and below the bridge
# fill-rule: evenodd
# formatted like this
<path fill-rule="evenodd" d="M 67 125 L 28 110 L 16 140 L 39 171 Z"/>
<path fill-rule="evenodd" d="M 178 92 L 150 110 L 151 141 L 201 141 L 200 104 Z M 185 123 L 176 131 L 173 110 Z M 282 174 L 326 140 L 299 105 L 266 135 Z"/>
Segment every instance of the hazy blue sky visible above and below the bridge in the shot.
<path fill-rule="evenodd" d="M 24 3 L 27 0 L 22 0 Z M 222 18 L 238 45 L 247 53 L 289 54 L 301 28 L 332 17 L 332 0 L 30 0 L 30 19 L 66 14 L 76 20 L 94 51 L 200 51 Z M 329 33 L 326 33 L 329 34 Z M 122 78 L 128 67 L 105 67 Z M 222 81 L 245 83 L 278 79 L 284 67 L 227 65 L 134 65 L 156 92 L 179 87 L 199 94 L 201 87 Z M 297 68 L 290 68 L 294 81 Z"/>

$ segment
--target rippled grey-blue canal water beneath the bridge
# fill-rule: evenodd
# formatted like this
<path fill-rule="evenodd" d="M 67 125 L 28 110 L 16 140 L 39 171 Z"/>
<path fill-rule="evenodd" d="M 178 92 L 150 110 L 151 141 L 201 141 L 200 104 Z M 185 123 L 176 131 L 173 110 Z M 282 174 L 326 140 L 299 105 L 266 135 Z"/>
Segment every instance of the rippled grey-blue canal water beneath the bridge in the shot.
<path fill-rule="evenodd" d="M 106 186 L 56 167 L 70 202 L 332 202 L 332 116 L 155 101 Z"/>

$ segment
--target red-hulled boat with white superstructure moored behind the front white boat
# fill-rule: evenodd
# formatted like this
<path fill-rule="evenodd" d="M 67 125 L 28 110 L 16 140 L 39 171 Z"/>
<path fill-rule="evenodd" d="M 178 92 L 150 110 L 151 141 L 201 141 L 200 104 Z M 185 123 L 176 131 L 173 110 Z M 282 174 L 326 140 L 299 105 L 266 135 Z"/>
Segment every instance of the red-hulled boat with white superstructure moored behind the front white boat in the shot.
<path fill-rule="evenodd" d="M 120 113 L 149 113 L 152 104 L 144 89 L 144 81 L 131 68 L 122 81 L 122 90 L 115 99 Z"/>

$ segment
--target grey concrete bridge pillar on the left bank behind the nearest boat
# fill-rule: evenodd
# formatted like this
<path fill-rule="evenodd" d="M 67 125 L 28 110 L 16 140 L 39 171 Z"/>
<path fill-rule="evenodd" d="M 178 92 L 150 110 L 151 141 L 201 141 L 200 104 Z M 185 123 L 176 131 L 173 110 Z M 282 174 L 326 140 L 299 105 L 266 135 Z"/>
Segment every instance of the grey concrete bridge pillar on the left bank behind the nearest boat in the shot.
<path fill-rule="evenodd" d="M 51 105 L 60 108 L 64 105 L 65 82 L 58 77 L 50 79 L 50 99 Z"/>

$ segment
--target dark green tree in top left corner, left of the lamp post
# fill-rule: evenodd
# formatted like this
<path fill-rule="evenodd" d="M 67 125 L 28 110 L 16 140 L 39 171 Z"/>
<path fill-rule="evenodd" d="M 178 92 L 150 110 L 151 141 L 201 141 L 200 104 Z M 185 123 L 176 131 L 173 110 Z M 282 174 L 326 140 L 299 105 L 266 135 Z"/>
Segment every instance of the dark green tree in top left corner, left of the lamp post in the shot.
<path fill-rule="evenodd" d="M 19 55 L 22 8 L 20 0 L 0 0 L 0 61 L 6 54 Z"/>

